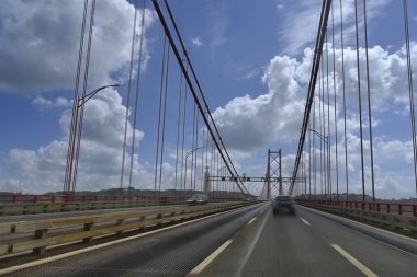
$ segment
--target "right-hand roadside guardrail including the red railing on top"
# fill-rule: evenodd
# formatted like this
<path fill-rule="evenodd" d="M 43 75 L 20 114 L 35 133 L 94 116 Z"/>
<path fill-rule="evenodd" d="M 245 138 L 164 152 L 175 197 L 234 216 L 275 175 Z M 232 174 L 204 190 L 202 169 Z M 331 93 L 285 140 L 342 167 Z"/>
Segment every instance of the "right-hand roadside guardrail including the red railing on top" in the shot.
<path fill-rule="evenodd" d="M 358 203 L 358 205 L 354 205 L 353 201 L 350 201 L 348 205 L 341 206 L 339 205 L 340 203 L 335 205 L 335 203 L 330 201 L 298 199 L 297 204 L 338 216 L 365 221 L 380 227 L 391 227 L 397 230 L 406 230 L 417 233 L 417 217 L 415 216 L 415 212 L 413 212 L 413 207 L 416 206 L 414 204 L 395 204 L 397 208 L 393 208 L 394 204 L 391 203 L 387 204 L 387 206 L 384 206 L 385 209 L 381 209 L 380 206 L 379 210 L 376 209 L 377 203 L 372 203 L 372 205 L 368 205 L 368 203 Z M 404 207 L 410 208 L 410 211 L 405 211 Z"/>

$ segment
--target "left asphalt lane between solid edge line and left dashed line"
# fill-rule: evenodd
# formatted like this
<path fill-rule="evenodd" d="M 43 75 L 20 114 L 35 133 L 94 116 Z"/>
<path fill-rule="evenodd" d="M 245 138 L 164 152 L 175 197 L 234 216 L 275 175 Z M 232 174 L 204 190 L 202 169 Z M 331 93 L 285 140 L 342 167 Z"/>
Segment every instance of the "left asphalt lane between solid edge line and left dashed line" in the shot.
<path fill-rule="evenodd" d="M 9 276 L 184 276 L 263 207 L 248 206 Z"/>

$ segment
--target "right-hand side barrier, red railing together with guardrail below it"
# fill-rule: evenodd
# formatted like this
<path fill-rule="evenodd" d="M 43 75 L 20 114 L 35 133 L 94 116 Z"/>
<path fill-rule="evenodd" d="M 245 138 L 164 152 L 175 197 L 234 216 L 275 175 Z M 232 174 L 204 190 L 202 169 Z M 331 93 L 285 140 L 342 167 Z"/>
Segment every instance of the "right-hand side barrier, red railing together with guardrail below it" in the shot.
<path fill-rule="evenodd" d="M 337 216 L 347 217 L 359 221 L 365 221 L 368 223 L 384 228 L 395 228 L 397 230 L 405 230 L 417 233 L 417 217 L 415 217 L 412 212 L 392 213 L 392 210 L 390 210 L 388 213 L 381 210 L 379 211 L 377 209 L 368 209 L 365 208 L 367 204 L 357 205 L 356 207 L 354 205 L 352 205 L 353 207 L 350 207 L 350 205 L 340 206 L 333 205 L 331 203 L 325 204 L 308 200 L 297 200 L 297 204 Z M 390 205 L 387 207 L 390 208 Z M 399 207 L 402 207 L 402 205 Z"/>

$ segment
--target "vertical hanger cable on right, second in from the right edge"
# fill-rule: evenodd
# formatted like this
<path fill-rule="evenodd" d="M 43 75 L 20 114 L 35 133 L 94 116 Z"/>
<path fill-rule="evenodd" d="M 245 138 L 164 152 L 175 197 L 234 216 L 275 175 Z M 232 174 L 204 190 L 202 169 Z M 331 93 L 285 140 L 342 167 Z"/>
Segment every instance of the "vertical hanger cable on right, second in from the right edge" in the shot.
<path fill-rule="evenodd" d="M 365 38 L 365 60 L 367 60 L 367 91 L 368 91 L 368 124 L 369 124 L 369 143 L 371 154 L 371 180 L 372 180 L 372 201 L 375 201 L 375 178 L 373 171 L 373 138 L 372 138 L 372 108 L 371 108 L 371 85 L 369 79 L 369 56 L 368 56 L 368 23 L 367 23 L 367 0 L 363 0 L 363 28 Z"/>

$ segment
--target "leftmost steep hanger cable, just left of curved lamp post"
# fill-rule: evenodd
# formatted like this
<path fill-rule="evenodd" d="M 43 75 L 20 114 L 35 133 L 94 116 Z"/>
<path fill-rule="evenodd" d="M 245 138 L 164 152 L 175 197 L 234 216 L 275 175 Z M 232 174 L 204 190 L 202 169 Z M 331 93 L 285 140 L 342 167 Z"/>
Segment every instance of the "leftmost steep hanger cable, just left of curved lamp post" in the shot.
<path fill-rule="evenodd" d="M 77 62 L 77 73 L 76 73 L 76 85 L 74 90 L 74 103 L 72 103 L 72 117 L 71 117 L 71 127 L 69 132 L 69 139 L 68 139 L 68 152 L 67 152 L 67 165 L 65 169 L 65 178 L 64 178 L 64 192 L 70 191 L 70 183 L 71 183 L 71 174 L 72 174 L 72 155 L 74 154 L 74 131 L 75 131 L 75 125 L 78 120 L 78 102 L 79 102 L 79 82 L 80 82 L 80 74 L 81 74 L 81 61 L 82 61 L 82 49 L 83 49 L 83 42 L 84 42 L 84 33 L 86 33 L 86 21 L 87 21 L 87 10 L 88 10 L 88 0 L 84 0 L 84 9 L 82 13 L 82 24 L 81 24 L 81 32 L 80 32 L 80 43 L 79 43 L 79 50 L 78 50 L 78 62 Z"/>

